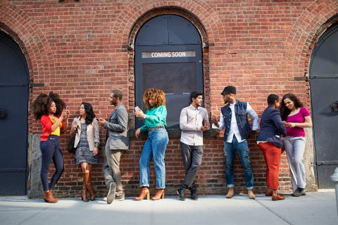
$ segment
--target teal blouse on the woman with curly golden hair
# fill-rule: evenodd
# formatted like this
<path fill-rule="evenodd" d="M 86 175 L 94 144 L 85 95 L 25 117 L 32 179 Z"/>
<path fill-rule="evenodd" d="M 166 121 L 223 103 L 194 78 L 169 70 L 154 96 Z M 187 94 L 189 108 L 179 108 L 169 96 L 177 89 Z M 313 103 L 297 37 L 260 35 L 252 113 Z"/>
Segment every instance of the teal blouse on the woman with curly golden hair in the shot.
<path fill-rule="evenodd" d="M 146 118 L 141 131 L 147 131 L 151 127 L 164 126 L 167 127 L 167 108 L 164 105 L 154 106 L 150 110 L 146 110 Z"/>

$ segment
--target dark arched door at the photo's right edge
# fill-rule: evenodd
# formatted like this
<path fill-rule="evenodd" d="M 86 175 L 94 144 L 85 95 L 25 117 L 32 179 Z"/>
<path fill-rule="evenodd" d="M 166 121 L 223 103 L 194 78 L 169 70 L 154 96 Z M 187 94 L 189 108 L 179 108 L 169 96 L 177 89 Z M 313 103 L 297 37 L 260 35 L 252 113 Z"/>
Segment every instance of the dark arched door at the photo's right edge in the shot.
<path fill-rule="evenodd" d="M 338 25 L 318 39 L 309 68 L 315 145 L 315 174 L 319 188 L 333 188 L 338 167 Z"/>

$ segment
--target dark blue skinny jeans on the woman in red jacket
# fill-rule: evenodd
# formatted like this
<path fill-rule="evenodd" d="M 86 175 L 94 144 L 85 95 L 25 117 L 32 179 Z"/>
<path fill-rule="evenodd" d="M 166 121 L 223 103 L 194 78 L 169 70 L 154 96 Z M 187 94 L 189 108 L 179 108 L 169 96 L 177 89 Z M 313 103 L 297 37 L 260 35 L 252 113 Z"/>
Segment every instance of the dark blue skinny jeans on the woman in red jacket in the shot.
<path fill-rule="evenodd" d="M 50 135 L 47 141 L 40 142 L 40 150 L 42 154 L 42 165 L 41 165 L 41 181 L 44 191 L 54 189 L 54 186 L 58 183 L 61 174 L 63 173 L 63 154 L 60 147 L 60 141 L 58 136 Z M 51 160 L 54 162 L 55 172 L 51 176 L 51 183 L 48 184 L 48 173 Z"/>

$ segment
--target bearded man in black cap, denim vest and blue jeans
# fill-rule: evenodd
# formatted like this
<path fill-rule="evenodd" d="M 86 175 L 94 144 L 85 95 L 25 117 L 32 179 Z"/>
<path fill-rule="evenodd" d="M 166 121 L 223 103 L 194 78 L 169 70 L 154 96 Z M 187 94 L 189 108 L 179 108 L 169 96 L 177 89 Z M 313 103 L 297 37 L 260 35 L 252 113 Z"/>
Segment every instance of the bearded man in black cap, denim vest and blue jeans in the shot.
<path fill-rule="evenodd" d="M 234 195 L 234 155 L 237 151 L 239 159 L 244 168 L 245 186 L 248 196 L 255 199 L 253 193 L 253 174 L 250 162 L 250 151 L 246 139 L 251 134 L 248 114 L 252 119 L 252 130 L 258 129 L 258 115 L 249 103 L 236 99 L 236 88 L 225 86 L 221 93 L 225 106 L 220 110 L 220 122 L 213 116 L 213 127 L 224 131 L 224 153 L 225 153 L 225 178 L 227 179 L 228 192 L 226 198 Z"/>

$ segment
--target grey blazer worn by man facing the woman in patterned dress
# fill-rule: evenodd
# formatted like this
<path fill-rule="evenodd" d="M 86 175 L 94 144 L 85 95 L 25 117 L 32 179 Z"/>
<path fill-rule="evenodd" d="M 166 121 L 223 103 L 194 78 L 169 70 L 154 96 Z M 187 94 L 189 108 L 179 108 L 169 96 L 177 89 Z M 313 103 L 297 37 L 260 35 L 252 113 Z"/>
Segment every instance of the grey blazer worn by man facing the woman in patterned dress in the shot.
<path fill-rule="evenodd" d="M 125 105 L 120 103 L 116 106 L 108 121 L 104 123 L 104 127 L 108 130 L 109 136 L 106 142 L 111 150 L 128 149 L 128 113 Z"/>

